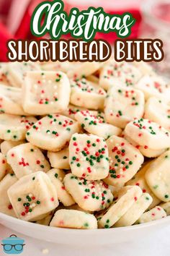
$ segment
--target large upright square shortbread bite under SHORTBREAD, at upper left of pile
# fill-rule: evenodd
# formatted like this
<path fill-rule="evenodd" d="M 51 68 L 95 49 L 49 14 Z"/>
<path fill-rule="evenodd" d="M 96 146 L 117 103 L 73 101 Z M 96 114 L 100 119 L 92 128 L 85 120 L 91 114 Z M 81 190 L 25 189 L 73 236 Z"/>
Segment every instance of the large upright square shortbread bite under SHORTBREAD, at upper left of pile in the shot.
<path fill-rule="evenodd" d="M 34 115 L 60 113 L 68 107 L 70 92 L 63 72 L 27 72 L 22 86 L 24 111 Z"/>

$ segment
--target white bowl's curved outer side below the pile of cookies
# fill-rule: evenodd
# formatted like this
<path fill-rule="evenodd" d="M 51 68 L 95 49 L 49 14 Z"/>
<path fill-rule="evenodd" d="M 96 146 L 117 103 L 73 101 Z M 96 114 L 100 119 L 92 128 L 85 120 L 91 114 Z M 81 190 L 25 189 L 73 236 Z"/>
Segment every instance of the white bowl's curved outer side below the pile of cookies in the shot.
<path fill-rule="evenodd" d="M 135 241 L 152 232 L 159 231 L 170 225 L 170 216 L 158 221 L 151 221 L 135 226 L 128 226 L 115 229 L 61 229 L 50 226 L 42 226 L 36 223 L 22 221 L 17 218 L 6 216 L 0 213 L 0 223 L 9 229 L 36 239 L 54 242 L 57 244 L 86 246 L 115 244 Z"/>

